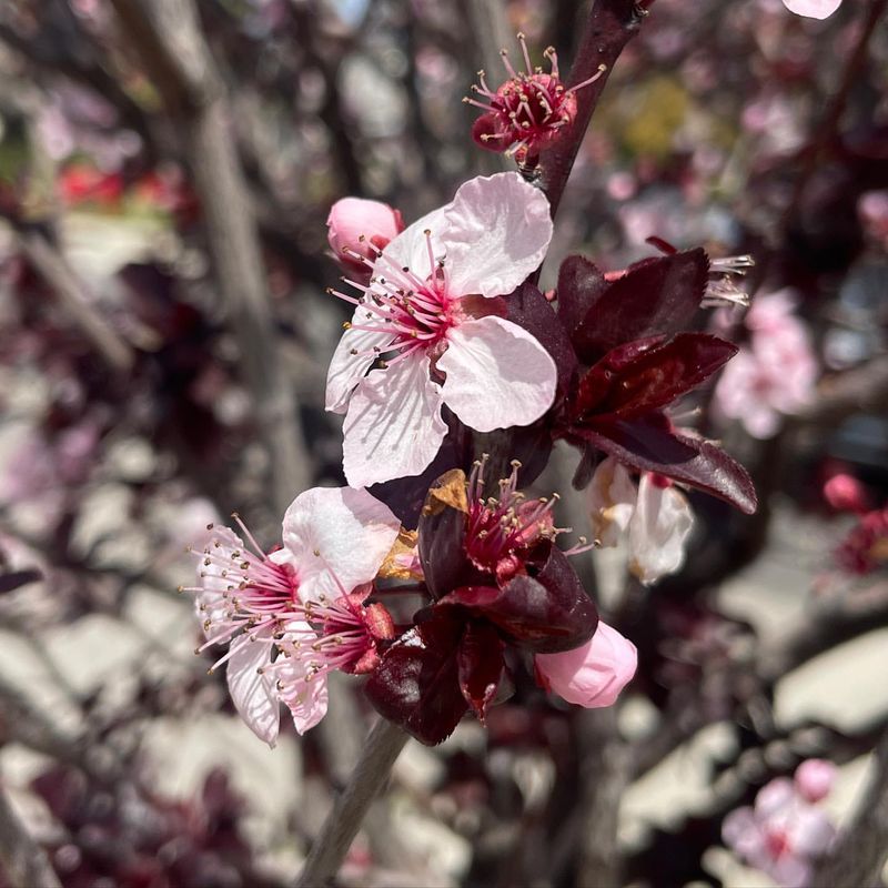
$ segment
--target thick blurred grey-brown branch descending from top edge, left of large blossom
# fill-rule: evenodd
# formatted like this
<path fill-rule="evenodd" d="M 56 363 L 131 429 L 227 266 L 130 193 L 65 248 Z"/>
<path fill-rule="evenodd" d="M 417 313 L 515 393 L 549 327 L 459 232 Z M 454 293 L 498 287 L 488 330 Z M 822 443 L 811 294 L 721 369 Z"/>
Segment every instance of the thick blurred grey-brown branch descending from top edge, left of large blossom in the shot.
<path fill-rule="evenodd" d="M 231 108 L 193 0 L 112 0 L 168 112 L 180 127 L 215 279 L 240 345 L 278 511 L 312 477 L 292 380 L 282 367 L 250 195 L 230 133 Z"/>

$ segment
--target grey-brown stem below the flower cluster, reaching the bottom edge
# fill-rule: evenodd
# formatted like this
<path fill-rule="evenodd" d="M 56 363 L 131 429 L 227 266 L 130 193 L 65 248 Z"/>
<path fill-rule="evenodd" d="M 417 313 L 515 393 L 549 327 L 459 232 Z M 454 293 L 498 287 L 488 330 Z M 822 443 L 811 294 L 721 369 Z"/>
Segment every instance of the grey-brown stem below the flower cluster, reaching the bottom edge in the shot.
<path fill-rule="evenodd" d="M 321 888 L 332 882 L 361 828 L 364 815 L 389 779 L 392 766 L 407 739 L 397 725 L 384 718 L 373 726 L 349 785 L 336 799 L 312 845 L 296 888 Z"/>

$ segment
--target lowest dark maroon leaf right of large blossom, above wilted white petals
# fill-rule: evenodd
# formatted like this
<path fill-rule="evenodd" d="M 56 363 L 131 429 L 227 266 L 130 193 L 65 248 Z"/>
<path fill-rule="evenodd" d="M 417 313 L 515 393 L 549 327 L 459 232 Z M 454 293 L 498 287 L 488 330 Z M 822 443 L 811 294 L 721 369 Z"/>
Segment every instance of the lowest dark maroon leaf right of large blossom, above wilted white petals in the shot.
<path fill-rule="evenodd" d="M 614 420 L 594 428 L 573 430 L 578 437 L 619 462 L 645 472 L 658 472 L 726 500 L 751 515 L 758 506 L 753 480 L 720 447 L 677 435 L 659 414 L 643 420 Z"/>

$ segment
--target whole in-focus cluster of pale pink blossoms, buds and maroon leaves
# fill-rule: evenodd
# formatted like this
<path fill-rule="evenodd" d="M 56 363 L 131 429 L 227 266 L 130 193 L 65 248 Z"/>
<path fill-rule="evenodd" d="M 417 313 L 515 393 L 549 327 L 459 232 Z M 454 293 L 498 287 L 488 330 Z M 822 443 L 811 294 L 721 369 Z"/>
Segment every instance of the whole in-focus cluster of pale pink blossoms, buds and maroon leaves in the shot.
<path fill-rule="evenodd" d="M 211 528 L 200 552 L 201 649 L 228 646 L 216 665 L 270 744 L 281 704 L 300 733 L 323 717 L 332 670 L 366 676 L 372 705 L 425 744 L 467 714 L 484 723 L 528 679 L 541 699 L 609 706 L 637 653 L 599 620 L 571 556 L 626 536 L 629 569 L 650 584 L 683 564 L 694 521 L 684 487 L 756 507 L 746 472 L 674 411 L 737 353 L 698 332 L 696 315 L 745 305 L 736 280 L 751 260 L 653 239 L 660 254 L 626 269 L 568 256 L 544 296 L 552 209 L 532 168 L 603 70 L 566 89 L 555 53 L 543 73 L 519 41 L 526 73 L 504 53 L 509 80 L 492 91 L 482 75 L 473 134 L 515 154 L 522 173 L 472 179 L 406 228 L 376 201 L 331 209 L 343 278 L 327 292 L 353 314 L 326 410 L 344 414 L 351 486 L 297 496 L 271 552 L 240 519 L 249 545 Z M 593 535 L 566 551 L 557 494 L 527 497 L 518 484 L 558 441 L 578 451 Z M 496 455 L 476 458 L 487 442 Z"/>

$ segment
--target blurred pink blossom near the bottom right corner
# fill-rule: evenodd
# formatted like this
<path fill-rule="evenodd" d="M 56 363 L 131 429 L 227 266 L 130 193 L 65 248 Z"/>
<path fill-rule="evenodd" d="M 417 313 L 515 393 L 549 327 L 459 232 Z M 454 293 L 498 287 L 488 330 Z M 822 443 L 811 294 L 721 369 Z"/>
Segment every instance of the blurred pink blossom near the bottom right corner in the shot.
<path fill-rule="evenodd" d="M 810 884 L 814 861 L 836 836 L 827 815 L 801 790 L 815 776 L 819 789 L 825 785 L 820 764 L 815 768 L 818 775 L 807 770 L 807 764 L 799 767 L 795 783 L 787 777 L 771 780 L 759 790 L 754 807 L 737 808 L 722 825 L 725 844 L 785 888 Z"/>

